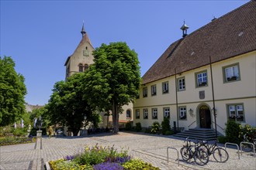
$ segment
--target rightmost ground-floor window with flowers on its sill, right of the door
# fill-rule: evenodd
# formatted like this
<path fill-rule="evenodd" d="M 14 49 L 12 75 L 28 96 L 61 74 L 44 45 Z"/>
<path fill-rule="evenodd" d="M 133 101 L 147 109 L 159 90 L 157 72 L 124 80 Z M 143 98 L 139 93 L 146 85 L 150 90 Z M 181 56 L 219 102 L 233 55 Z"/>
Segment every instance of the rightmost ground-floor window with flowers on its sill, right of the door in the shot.
<path fill-rule="evenodd" d="M 244 121 L 244 105 L 243 104 L 228 104 L 228 117 L 233 121 Z"/>

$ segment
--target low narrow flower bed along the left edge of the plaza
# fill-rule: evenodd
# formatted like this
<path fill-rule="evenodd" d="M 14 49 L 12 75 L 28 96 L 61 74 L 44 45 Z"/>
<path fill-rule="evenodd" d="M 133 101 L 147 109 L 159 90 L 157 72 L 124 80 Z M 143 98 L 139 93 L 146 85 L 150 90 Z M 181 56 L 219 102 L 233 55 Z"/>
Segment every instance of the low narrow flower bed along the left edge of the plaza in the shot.
<path fill-rule="evenodd" d="M 35 141 L 36 141 L 36 138 L 9 136 L 9 137 L 0 138 L 0 146 L 26 144 L 26 143 L 32 143 Z"/>

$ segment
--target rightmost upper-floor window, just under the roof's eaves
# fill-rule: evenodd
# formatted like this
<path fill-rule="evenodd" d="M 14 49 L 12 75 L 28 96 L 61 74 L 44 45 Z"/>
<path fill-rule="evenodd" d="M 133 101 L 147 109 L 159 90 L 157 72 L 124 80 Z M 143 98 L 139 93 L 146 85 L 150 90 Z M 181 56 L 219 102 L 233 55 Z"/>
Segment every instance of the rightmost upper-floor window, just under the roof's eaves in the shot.
<path fill-rule="evenodd" d="M 240 80 L 240 71 L 238 63 L 231 66 L 223 67 L 223 76 L 224 83 Z"/>

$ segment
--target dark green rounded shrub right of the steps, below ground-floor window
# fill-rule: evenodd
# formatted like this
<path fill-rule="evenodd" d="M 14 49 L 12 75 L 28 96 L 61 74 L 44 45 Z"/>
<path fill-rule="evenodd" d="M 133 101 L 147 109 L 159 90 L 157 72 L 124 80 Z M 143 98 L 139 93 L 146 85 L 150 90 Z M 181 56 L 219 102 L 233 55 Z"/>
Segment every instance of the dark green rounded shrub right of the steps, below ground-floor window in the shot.
<path fill-rule="evenodd" d="M 227 121 L 225 133 L 228 142 L 235 144 L 240 143 L 240 124 L 236 121 Z"/>

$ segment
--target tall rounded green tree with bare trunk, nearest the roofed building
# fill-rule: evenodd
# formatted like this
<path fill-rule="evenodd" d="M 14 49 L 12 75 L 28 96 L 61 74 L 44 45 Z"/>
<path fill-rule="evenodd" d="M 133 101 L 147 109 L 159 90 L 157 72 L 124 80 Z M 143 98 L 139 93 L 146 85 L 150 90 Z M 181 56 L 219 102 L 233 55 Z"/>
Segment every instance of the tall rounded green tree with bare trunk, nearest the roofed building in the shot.
<path fill-rule="evenodd" d="M 114 132 L 119 131 L 122 106 L 133 102 L 140 88 L 137 53 L 126 42 L 102 44 L 93 53 L 94 64 L 85 73 L 85 95 L 95 109 L 112 110 Z"/>

